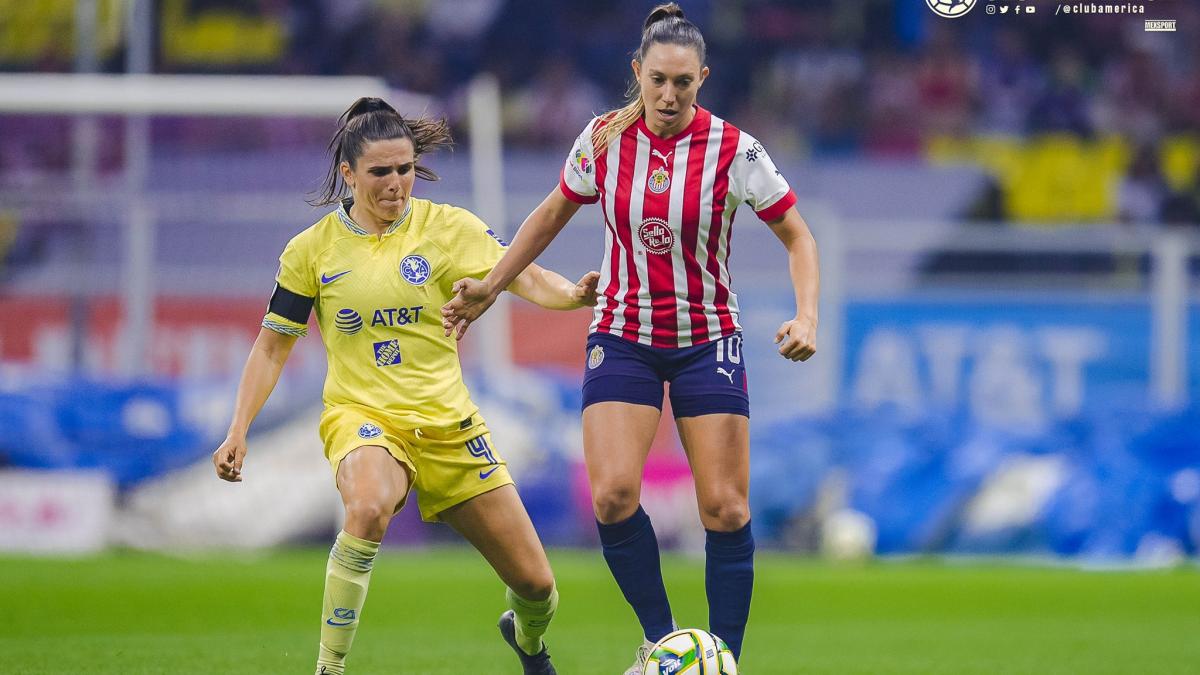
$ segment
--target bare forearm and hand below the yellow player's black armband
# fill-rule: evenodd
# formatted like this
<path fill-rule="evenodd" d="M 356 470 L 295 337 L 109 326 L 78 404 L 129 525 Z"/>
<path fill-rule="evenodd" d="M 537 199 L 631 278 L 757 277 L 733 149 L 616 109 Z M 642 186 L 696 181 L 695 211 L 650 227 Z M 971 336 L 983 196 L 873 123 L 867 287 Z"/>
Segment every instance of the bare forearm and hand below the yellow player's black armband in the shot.
<path fill-rule="evenodd" d="M 246 458 L 246 434 L 250 423 L 263 410 L 266 398 L 280 380 L 283 364 L 296 342 L 295 335 L 284 335 L 269 328 L 258 331 L 258 339 L 250 350 L 250 358 L 241 371 L 238 398 L 233 408 L 233 422 L 221 447 L 212 453 L 212 465 L 217 477 L 232 483 L 241 482 L 241 462 Z"/>

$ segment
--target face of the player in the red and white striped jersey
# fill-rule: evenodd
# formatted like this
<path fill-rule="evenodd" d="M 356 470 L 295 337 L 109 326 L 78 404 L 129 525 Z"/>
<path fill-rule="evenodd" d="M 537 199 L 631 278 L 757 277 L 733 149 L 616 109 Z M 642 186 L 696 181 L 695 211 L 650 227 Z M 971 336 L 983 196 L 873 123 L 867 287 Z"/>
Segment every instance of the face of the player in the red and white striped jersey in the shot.
<path fill-rule="evenodd" d="M 691 123 L 691 106 L 708 67 L 691 47 L 654 43 L 641 62 L 634 61 L 634 77 L 646 104 L 646 126 L 659 136 L 672 136 Z"/>

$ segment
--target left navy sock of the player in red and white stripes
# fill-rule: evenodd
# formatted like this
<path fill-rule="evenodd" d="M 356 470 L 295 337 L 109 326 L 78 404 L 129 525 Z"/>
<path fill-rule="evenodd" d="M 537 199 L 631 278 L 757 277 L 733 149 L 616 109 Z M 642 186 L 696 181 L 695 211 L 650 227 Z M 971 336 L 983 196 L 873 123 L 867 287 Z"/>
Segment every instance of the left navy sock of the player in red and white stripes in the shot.
<path fill-rule="evenodd" d="M 625 595 L 625 602 L 637 614 L 637 620 L 642 622 L 646 639 L 656 643 L 674 629 L 674 623 L 671 619 L 667 590 L 662 585 L 659 540 L 654 536 L 650 516 L 638 506 L 629 519 L 612 525 L 596 521 L 596 527 L 600 530 L 604 558 L 612 571 L 613 579 Z M 712 595 L 709 601 L 712 602 Z"/>

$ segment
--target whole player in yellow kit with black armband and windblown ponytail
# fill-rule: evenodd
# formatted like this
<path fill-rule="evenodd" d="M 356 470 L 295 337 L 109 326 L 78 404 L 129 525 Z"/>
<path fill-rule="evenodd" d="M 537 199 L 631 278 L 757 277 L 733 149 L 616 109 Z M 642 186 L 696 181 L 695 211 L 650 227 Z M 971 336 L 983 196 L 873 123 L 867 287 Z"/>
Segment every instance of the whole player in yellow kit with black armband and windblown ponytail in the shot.
<path fill-rule="evenodd" d="M 337 203 L 343 185 L 353 197 L 280 257 L 228 437 L 212 454 L 218 477 L 242 479 L 246 431 L 316 309 L 329 359 L 320 437 L 346 507 L 326 566 L 318 675 L 344 673 L 379 542 L 413 486 L 421 518 L 457 530 L 508 586 L 499 628 L 524 673 L 554 673 L 541 639 L 558 605 L 554 577 L 438 312 L 455 281 L 487 274 L 505 245 L 469 211 L 412 196 L 418 177 L 437 178 L 420 159 L 449 143 L 444 123 L 406 120 L 379 98 L 346 112 L 319 203 Z M 571 283 L 530 265 L 509 289 L 569 310 L 595 303 L 598 276 Z"/>

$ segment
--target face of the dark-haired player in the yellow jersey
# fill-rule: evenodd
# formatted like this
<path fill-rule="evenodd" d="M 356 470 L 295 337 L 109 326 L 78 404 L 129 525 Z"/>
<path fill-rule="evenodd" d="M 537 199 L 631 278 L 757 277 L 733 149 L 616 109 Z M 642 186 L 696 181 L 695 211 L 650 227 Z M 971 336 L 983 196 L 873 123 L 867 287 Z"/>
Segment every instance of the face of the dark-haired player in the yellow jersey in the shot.
<path fill-rule="evenodd" d="M 404 213 L 416 180 L 416 156 L 408 138 L 371 141 L 350 167 L 342 162 L 342 179 L 354 193 L 354 204 L 376 225 L 391 223 Z"/>

